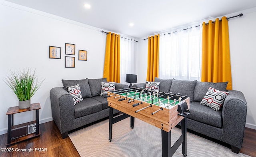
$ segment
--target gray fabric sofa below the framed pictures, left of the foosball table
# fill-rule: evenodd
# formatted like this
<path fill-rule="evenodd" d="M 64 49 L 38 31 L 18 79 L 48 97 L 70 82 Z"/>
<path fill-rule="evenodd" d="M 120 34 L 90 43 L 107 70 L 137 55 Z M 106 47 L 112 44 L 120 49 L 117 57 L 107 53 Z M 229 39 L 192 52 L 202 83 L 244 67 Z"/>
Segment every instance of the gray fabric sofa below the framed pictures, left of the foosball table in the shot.
<path fill-rule="evenodd" d="M 102 79 L 64 80 L 63 87 L 50 90 L 52 118 L 58 126 L 62 138 L 68 137 L 68 131 L 109 116 L 107 98 L 100 96 Z M 80 85 L 83 100 L 74 105 L 73 97 L 66 87 Z M 116 90 L 128 88 L 128 85 L 116 83 Z M 119 111 L 114 109 L 114 113 Z"/>

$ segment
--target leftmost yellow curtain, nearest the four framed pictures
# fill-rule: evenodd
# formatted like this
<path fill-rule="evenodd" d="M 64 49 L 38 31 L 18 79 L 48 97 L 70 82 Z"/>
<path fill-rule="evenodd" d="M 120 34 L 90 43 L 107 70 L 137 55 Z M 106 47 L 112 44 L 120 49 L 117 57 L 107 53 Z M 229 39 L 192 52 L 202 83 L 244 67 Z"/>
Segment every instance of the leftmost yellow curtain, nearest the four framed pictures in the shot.
<path fill-rule="evenodd" d="M 103 78 L 120 83 L 120 35 L 108 32 Z"/>

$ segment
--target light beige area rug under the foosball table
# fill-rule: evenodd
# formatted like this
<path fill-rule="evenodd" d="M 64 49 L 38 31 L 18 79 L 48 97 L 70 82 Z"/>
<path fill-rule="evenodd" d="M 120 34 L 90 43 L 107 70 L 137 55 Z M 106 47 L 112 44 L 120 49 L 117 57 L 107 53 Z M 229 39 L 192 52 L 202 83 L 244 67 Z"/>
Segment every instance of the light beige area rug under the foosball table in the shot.
<path fill-rule="evenodd" d="M 108 140 L 108 119 L 68 134 L 81 157 L 162 157 L 161 129 L 135 118 L 113 124 L 112 141 Z M 180 137 L 181 129 L 174 127 L 171 145 Z M 187 132 L 187 157 L 248 157 L 233 153 L 218 143 Z M 180 146 L 173 157 L 183 157 Z"/>

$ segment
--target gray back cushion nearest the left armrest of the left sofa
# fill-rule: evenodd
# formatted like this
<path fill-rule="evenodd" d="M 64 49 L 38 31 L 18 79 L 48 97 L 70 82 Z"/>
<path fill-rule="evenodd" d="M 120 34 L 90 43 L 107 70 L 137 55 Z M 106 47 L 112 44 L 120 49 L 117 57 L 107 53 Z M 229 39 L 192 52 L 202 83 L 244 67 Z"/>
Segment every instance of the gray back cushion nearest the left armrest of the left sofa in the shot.
<path fill-rule="evenodd" d="M 80 80 L 62 79 L 62 84 L 63 84 L 64 89 L 66 89 L 67 86 L 73 86 L 73 85 L 79 84 L 83 99 L 85 99 L 87 97 L 92 97 L 87 78 L 80 79 Z"/>

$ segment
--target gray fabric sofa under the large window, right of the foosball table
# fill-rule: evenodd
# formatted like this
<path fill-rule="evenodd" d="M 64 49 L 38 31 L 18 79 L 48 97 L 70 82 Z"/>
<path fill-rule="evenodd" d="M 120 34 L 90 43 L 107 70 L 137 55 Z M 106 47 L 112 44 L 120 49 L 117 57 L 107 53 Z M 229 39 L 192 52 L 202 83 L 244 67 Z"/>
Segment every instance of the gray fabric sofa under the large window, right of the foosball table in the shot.
<path fill-rule="evenodd" d="M 190 97 L 190 115 L 187 118 L 187 128 L 208 137 L 231 145 L 234 153 L 242 148 L 246 122 L 247 104 L 242 92 L 226 90 L 228 82 L 211 83 L 178 79 L 155 78 L 160 82 L 159 91 Z M 133 87 L 146 87 L 146 83 L 134 84 Z M 200 104 L 209 87 L 220 91 L 228 91 L 219 111 Z"/>

